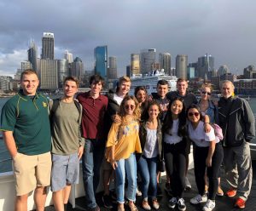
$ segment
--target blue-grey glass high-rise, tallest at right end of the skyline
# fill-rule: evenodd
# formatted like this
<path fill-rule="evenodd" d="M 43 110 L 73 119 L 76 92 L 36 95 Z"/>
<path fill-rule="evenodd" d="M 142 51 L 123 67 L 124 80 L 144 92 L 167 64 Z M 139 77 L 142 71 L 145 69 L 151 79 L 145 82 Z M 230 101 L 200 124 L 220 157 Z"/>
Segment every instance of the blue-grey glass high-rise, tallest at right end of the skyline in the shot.
<path fill-rule="evenodd" d="M 210 72 L 214 70 L 214 58 L 210 54 L 205 54 L 198 58 L 197 71 L 198 77 L 205 78 L 209 77 Z"/>

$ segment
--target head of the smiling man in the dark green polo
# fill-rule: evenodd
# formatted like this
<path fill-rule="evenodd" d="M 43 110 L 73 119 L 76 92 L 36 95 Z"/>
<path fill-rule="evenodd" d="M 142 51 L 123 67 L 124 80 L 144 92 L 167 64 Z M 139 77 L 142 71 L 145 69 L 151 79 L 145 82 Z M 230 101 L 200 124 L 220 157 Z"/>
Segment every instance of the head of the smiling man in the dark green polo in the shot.
<path fill-rule="evenodd" d="M 36 74 L 24 74 L 20 86 L 23 89 L 23 94 L 35 95 L 39 85 L 38 76 Z"/>

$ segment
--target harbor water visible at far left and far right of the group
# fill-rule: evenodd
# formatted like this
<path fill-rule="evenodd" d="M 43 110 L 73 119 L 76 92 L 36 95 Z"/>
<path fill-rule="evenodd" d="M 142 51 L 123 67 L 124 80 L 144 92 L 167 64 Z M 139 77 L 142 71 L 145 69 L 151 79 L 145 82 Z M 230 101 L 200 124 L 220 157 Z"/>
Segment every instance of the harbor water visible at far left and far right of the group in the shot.
<path fill-rule="evenodd" d="M 0 111 L 2 110 L 5 102 L 9 100 L 9 98 L 0 98 Z M 252 107 L 254 117 L 256 118 L 256 98 L 251 98 L 248 100 L 250 106 Z M 1 134 L 2 135 L 2 134 Z M 256 143 L 256 139 L 253 140 L 253 143 Z M 7 151 L 3 138 L 0 139 L 0 173 L 12 171 L 11 160 L 9 156 L 9 152 Z"/>

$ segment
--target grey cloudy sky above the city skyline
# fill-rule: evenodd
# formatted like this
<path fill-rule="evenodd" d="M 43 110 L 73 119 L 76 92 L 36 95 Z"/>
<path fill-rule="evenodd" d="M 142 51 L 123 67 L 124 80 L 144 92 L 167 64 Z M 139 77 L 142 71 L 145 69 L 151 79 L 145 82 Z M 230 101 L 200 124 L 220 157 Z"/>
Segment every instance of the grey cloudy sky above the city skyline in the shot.
<path fill-rule="evenodd" d="M 108 45 L 119 76 L 130 55 L 143 48 L 188 54 L 195 62 L 212 54 L 215 68 L 241 73 L 256 66 L 255 0 L 0 0 L 0 75 L 13 75 L 27 60 L 30 39 L 55 34 L 55 59 L 68 49 L 93 67 L 93 50 Z"/>

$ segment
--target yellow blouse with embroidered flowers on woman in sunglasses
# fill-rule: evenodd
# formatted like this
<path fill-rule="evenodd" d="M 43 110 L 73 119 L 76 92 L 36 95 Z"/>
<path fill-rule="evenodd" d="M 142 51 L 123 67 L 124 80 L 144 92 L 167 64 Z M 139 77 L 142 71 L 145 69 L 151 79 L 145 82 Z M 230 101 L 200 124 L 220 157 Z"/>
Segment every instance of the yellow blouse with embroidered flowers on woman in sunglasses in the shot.
<path fill-rule="evenodd" d="M 115 145 L 114 159 L 127 159 L 131 153 L 142 153 L 142 147 L 139 140 L 139 124 L 137 121 L 131 121 L 128 124 L 113 123 L 107 141 L 106 157 L 108 162 L 111 160 L 110 146 Z"/>

